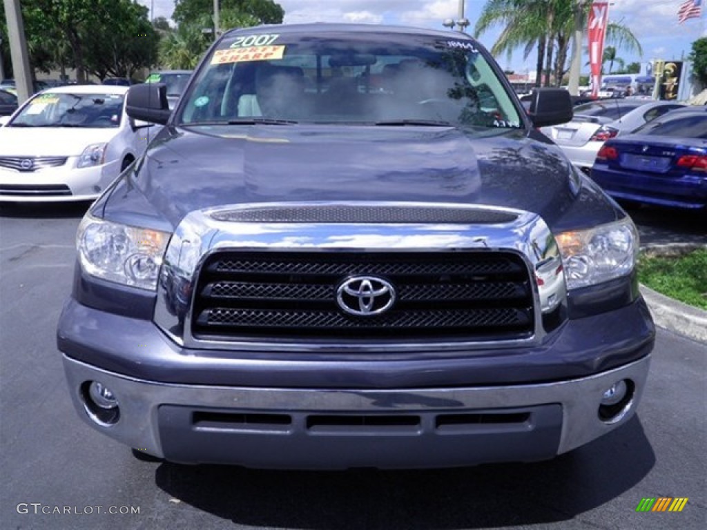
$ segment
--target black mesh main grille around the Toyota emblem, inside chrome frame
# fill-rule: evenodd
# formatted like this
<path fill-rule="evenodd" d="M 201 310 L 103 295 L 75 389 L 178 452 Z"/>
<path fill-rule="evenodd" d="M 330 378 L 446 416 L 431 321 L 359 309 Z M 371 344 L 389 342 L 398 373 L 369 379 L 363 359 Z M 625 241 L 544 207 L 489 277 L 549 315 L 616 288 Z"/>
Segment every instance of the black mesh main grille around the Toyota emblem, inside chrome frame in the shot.
<path fill-rule="evenodd" d="M 390 283 L 396 300 L 357 316 L 337 303 L 351 276 Z M 510 252 L 218 252 L 206 259 L 192 334 L 206 338 L 527 338 L 534 329 L 524 261 Z"/>

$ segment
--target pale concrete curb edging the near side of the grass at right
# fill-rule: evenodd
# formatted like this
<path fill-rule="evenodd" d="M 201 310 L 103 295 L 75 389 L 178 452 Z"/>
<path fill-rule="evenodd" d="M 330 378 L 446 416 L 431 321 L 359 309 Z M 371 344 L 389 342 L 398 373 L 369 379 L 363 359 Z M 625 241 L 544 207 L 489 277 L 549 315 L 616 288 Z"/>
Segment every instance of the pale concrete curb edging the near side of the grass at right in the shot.
<path fill-rule="evenodd" d="M 655 325 L 707 344 L 707 311 L 678 302 L 641 284 Z"/>

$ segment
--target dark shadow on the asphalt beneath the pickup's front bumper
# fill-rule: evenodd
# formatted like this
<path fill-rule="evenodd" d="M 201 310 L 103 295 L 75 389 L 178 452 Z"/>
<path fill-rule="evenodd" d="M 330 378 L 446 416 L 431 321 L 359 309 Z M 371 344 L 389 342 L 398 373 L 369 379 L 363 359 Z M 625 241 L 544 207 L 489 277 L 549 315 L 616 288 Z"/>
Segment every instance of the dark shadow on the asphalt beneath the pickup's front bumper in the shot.
<path fill-rule="evenodd" d="M 561 522 L 631 490 L 655 454 L 634 417 L 551 461 L 436 471 L 255 471 L 163 463 L 169 495 L 237 524 L 296 529 L 461 529 Z M 627 513 L 635 509 L 640 498 Z"/>

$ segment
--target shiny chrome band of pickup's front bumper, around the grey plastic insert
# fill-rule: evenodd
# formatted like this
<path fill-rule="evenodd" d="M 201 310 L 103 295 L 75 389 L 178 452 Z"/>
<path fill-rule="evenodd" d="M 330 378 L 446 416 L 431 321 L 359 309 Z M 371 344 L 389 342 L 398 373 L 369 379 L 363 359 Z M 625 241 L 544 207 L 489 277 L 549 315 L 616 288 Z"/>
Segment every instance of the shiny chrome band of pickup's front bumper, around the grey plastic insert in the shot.
<path fill-rule="evenodd" d="M 78 362 L 64 355 L 66 377 L 79 415 L 93 426 L 115 440 L 130 447 L 142 449 L 156 457 L 165 457 L 163 440 L 160 437 L 160 407 L 176 406 L 189 409 L 233 411 L 234 413 L 282 413 L 293 414 L 317 413 L 330 414 L 395 414 L 404 413 L 445 413 L 463 414 L 473 411 L 484 413 L 502 412 L 509 409 L 524 409 L 535 406 L 559 405 L 561 407 L 561 425 L 559 425 L 559 445 L 556 454 L 571 451 L 594 440 L 607 432 L 626 423 L 636 411 L 643 394 L 645 380 L 648 377 L 650 355 L 636 362 L 614 370 L 602 372 L 590 377 L 571 379 L 545 384 L 521 384 L 515 386 L 470 387 L 451 389 L 281 389 L 281 388 L 246 388 L 246 387 L 206 387 L 181 384 L 161 384 L 139 379 L 132 379 L 115 373 L 99 370 L 85 363 Z M 633 398 L 626 405 L 624 413 L 612 422 L 602 421 L 598 414 L 600 399 L 604 391 L 621 379 L 633 382 Z M 100 426 L 90 419 L 83 402 L 81 386 L 88 381 L 98 381 L 108 387 L 117 397 L 120 418 L 114 425 Z M 429 426 L 429 425 L 428 425 Z M 182 425 L 185 435 L 189 425 Z M 424 425 L 423 425 L 423 428 Z M 431 430 L 434 430 L 433 428 Z M 527 425 L 525 436 L 532 440 L 532 425 Z M 179 430 L 177 430 L 177 435 Z M 477 431 L 478 432 L 478 431 Z M 291 433 L 289 434 L 297 434 Z M 308 443 L 308 433 L 298 433 L 298 443 Z M 449 439 L 450 433 L 420 432 L 428 440 Z M 458 433 L 457 433 L 458 434 Z M 501 433 L 502 434 L 502 433 Z M 175 430 L 170 431 L 170 436 Z M 259 438 L 267 442 L 268 437 L 276 437 L 277 442 L 288 435 L 285 429 L 279 432 L 257 432 Z M 329 442 L 334 440 L 329 433 Z M 467 440 L 474 437 L 474 432 L 464 433 Z M 399 437 L 398 437 L 399 438 Z M 275 440 L 273 438 L 273 440 Z M 309 438 L 311 440 L 311 437 Z M 367 437 L 366 442 L 385 443 L 386 437 Z M 259 442 L 258 442 L 259 443 Z M 286 443 L 286 442 L 285 442 Z M 434 441 L 432 449 L 434 449 Z M 441 443 L 441 442 L 440 442 Z M 429 444 L 426 446 L 428 449 Z M 441 447 L 441 446 L 440 446 Z M 234 452 L 238 447 L 233 447 Z M 196 448 L 204 452 L 204 458 L 196 461 L 209 461 L 209 447 Z M 283 458 L 282 454 L 274 457 Z M 424 459 L 424 455 L 421 455 Z M 527 459 L 523 454 L 509 458 L 512 461 Z M 236 462 L 234 462 L 236 463 Z M 244 463 L 239 461 L 238 463 Z M 477 462 L 479 463 L 479 462 Z M 247 465 L 247 461 L 245 465 Z M 257 461 L 253 466 L 262 466 Z M 425 462 L 419 462 L 425 467 Z M 456 465 L 464 465 L 460 461 Z M 267 467 L 267 465 L 265 465 Z M 279 465 L 275 465 L 279 466 Z M 334 468 L 337 465 L 334 463 Z"/>

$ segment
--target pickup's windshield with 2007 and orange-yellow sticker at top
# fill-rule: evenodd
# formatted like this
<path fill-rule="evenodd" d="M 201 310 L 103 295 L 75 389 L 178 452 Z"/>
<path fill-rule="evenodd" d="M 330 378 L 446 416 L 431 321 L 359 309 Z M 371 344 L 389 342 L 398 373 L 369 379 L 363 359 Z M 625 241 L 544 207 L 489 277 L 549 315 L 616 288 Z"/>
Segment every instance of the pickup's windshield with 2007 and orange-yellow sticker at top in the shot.
<path fill-rule="evenodd" d="M 467 37 L 262 31 L 221 40 L 177 122 L 523 126 L 510 90 Z"/>

